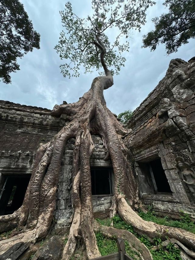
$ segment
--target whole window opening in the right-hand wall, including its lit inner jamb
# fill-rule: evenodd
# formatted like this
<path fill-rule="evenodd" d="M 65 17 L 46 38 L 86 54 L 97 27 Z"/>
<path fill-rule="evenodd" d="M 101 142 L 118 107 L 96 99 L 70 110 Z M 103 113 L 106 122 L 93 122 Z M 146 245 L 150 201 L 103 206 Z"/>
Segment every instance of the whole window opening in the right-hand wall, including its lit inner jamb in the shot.
<path fill-rule="evenodd" d="M 161 158 L 139 162 L 141 170 L 141 193 L 146 194 L 172 194 L 165 170 L 162 167 Z"/>

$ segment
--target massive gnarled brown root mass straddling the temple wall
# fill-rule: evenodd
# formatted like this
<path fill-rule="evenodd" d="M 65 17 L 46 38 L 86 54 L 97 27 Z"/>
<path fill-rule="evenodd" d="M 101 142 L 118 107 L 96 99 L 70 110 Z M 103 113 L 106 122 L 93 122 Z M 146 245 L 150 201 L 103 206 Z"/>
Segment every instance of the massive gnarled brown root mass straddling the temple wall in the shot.
<path fill-rule="evenodd" d="M 106 76 L 93 80 L 90 90 L 78 102 L 56 105 L 51 112 L 55 116 L 66 113 L 70 122 L 50 142 L 40 144 L 23 205 L 12 215 L 0 217 L 0 232 L 17 227 L 12 233 L 13 237 L 0 241 L 2 253 L 19 241 L 34 243 L 48 234 L 55 208 L 62 155 L 67 140 L 75 138 L 72 177 L 73 220 L 62 259 L 69 259 L 74 254 L 79 239 L 84 241 L 89 259 L 100 256 L 94 230 L 100 230 L 106 237 L 123 237 L 135 250 L 139 251 L 139 248 L 142 248 L 143 259 L 152 259 L 147 248 L 128 231 L 117 231 L 97 223 L 93 226 L 90 155 L 94 144 L 91 134 L 101 135 L 107 149 L 105 160 L 108 156 L 112 160 L 114 196 L 110 215 L 113 216 L 118 211 L 122 219 L 131 224 L 137 233 L 149 237 L 168 236 L 195 248 L 194 234 L 179 228 L 144 221 L 133 211 L 134 205 L 139 203 L 138 186 L 123 142 L 124 136 L 130 130 L 124 129 L 106 107 L 103 91 L 112 86 L 113 78 L 106 68 L 105 74 Z M 125 200 L 125 194 L 129 204 Z"/>

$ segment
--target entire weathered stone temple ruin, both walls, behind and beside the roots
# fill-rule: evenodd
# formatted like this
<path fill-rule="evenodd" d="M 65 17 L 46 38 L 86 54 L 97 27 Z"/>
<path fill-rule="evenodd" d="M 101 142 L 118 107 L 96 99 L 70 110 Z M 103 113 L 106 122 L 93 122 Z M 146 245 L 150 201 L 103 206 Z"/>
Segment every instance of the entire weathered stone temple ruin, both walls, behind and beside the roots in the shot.
<path fill-rule="evenodd" d="M 195 218 L 195 58 L 171 60 L 166 76 L 133 112 L 125 138 L 143 205 L 160 215 L 183 211 Z M 30 110 L 31 112 L 27 112 Z M 38 108 L 0 101 L 0 215 L 12 214 L 23 202 L 37 147 L 68 123 Z M 111 160 L 100 136 L 93 136 L 90 158 L 94 216 L 109 216 L 113 192 Z M 52 233 L 65 233 L 72 213 L 74 139 L 64 152 Z"/>

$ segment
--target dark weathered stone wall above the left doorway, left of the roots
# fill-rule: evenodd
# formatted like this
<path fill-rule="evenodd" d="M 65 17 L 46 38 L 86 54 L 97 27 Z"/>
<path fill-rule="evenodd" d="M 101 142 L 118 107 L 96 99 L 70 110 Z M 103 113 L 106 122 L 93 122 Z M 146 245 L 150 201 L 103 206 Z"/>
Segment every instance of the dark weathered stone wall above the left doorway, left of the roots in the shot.
<path fill-rule="evenodd" d="M 48 109 L 27 107 L 0 101 L 0 172 L 31 173 L 34 156 L 40 142 L 49 141 L 65 124 L 51 116 L 9 109 Z"/>

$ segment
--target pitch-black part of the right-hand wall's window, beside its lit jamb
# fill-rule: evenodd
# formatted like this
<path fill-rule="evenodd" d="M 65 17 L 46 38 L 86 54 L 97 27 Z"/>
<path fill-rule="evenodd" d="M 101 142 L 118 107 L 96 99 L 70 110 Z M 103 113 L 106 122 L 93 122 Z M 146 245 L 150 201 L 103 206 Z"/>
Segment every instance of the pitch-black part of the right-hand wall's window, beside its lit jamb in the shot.
<path fill-rule="evenodd" d="M 154 161 L 149 162 L 149 169 L 151 178 L 154 185 L 155 193 L 167 192 L 171 193 L 171 189 L 165 175 L 165 171 L 161 164 L 161 159 L 158 158 Z"/>

